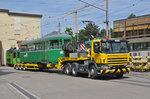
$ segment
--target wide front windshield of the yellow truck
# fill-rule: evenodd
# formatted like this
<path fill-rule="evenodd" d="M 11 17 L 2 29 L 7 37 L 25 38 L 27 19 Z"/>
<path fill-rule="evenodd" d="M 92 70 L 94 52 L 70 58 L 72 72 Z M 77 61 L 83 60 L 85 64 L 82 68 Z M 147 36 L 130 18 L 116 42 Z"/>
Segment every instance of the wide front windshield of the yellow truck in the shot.
<path fill-rule="evenodd" d="M 128 53 L 127 42 L 102 42 L 102 53 Z"/>

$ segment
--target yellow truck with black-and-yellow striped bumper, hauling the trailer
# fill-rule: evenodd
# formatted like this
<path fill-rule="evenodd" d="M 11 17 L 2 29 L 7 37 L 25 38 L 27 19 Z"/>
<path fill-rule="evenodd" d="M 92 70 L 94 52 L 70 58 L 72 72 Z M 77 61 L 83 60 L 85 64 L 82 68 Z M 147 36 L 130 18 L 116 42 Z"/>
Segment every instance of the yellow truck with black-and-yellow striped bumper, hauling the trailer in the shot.
<path fill-rule="evenodd" d="M 88 77 L 92 79 L 101 75 L 122 78 L 123 74 L 129 73 L 130 54 L 127 40 L 96 39 L 91 41 L 90 49 L 90 56 L 75 51 L 69 53 L 69 57 L 59 58 L 59 65 L 67 75 L 88 73 Z"/>

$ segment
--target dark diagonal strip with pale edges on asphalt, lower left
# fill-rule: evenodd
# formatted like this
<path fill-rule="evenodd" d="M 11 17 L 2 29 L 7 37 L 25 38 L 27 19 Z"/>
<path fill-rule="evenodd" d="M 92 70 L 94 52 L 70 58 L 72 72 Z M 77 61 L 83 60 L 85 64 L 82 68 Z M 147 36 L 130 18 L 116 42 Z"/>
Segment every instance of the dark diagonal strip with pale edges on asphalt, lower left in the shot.
<path fill-rule="evenodd" d="M 27 99 L 40 99 L 39 97 L 37 97 L 34 94 L 32 94 L 31 92 L 25 90 L 24 88 L 22 88 L 21 86 L 19 86 L 16 83 L 8 83 L 8 84 Z"/>

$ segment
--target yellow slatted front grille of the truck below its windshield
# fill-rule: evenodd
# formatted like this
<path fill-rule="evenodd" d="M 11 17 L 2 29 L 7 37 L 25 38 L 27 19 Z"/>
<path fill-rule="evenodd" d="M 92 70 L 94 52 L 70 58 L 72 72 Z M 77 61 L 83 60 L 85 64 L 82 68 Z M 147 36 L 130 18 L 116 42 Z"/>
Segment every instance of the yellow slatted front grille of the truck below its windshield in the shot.
<path fill-rule="evenodd" d="M 107 62 L 109 66 L 127 65 L 128 55 L 108 55 Z"/>

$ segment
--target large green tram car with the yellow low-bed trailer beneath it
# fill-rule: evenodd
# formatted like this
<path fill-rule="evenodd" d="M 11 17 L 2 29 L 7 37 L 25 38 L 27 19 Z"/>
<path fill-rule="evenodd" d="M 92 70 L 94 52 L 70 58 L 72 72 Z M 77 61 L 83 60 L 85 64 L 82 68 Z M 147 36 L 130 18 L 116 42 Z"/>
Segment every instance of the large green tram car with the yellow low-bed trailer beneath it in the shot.
<path fill-rule="evenodd" d="M 47 66 L 56 66 L 58 64 L 58 58 L 64 56 L 64 51 L 61 46 L 71 42 L 71 36 L 66 34 L 52 35 L 22 42 L 20 52 L 21 64 L 19 67 L 16 66 L 16 69 L 20 68 L 24 70 L 28 68 L 38 70 Z M 22 66 L 22 64 L 25 65 Z"/>

